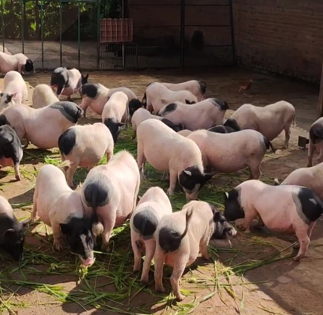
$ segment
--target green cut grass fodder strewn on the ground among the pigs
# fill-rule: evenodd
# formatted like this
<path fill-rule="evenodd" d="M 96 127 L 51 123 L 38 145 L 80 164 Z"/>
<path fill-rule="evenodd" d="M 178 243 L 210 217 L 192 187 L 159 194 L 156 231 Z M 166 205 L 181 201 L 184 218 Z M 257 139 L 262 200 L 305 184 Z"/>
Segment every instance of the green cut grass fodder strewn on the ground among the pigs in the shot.
<path fill-rule="evenodd" d="M 131 130 L 128 129 L 120 136 L 115 146 L 115 153 L 125 149 L 136 157 L 137 144 L 130 139 Z M 34 150 L 25 155 L 24 159 L 26 162 L 37 159 L 45 164 L 58 167 L 61 165 L 57 150 L 45 151 L 45 153 L 44 150 Z M 106 163 L 106 157 L 100 163 Z M 36 174 L 35 168 L 28 179 L 35 180 Z M 149 187 L 161 186 L 165 190 L 168 188 L 168 182 L 164 176 L 166 174 L 155 171 L 148 164 L 146 164 L 145 174 L 146 180 L 141 182 L 140 196 Z M 86 169 L 78 168 L 74 175 L 74 183 L 82 183 L 86 175 Z M 203 187 L 198 198 L 222 210 L 223 191 L 231 190 L 247 177 L 246 171 L 230 176 L 216 175 L 214 180 Z M 265 174 L 262 180 L 273 182 L 273 178 Z M 174 211 L 180 210 L 186 203 L 185 194 L 179 189 L 170 196 L 170 200 Z M 25 209 L 30 208 L 31 204 L 32 201 L 27 201 L 16 203 L 13 207 Z M 20 287 L 25 287 L 47 294 L 52 299 L 62 302 L 63 307 L 64 303 L 75 302 L 82 309 L 96 308 L 123 314 L 150 314 L 160 310 L 159 306 L 161 306 L 167 313 L 184 315 L 190 313 L 200 303 L 212 298 L 214 294 L 218 294 L 226 304 L 227 299 L 224 299 L 226 294 L 232 299 L 237 313 L 242 314 L 245 304 L 244 288 L 251 284 L 244 280 L 245 272 L 285 259 L 291 254 L 290 246 L 285 248 L 280 245 L 281 248 L 277 249 L 277 245 L 263 234 L 241 234 L 243 236 L 235 244 L 240 243 L 243 246 L 232 246 L 232 248 L 218 248 L 211 242 L 209 251 L 212 261 L 201 263 L 199 260 L 188 268 L 181 282 L 182 293 L 188 298 L 183 303 L 174 303 L 172 293 L 160 294 L 154 291 L 152 273 L 150 284 L 142 286 L 141 273 L 132 272 L 133 254 L 128 222 L 113 230 L 110 240 L 111 251 L 96 252 L 95 264 L 89 268 L 81 267 L 78 256 L 72 253 L 53 252 L 52 238 L 42 233 L 47 230 L 44 224 L 39 221 L 32 223 L 30 230 L 33 232 L 27 232 L 27 236 L 36 238 L 39 244 L 26 244 L 25 261 L 18 266 L 8 260 L 5 268 L 0 272 L 0 313 L 7 310 L 15 314 L 15 310 L 28 307 L 26 303 L 16 302 L 13 299 L 15 292 Z M 171 292 L 170 275 L 171 268 L 165 266 L 164 284 L 168 289 L 166 292 Z M 74 281 L 76 286 L 68 290 L 64 287 L 64 282 L 71 281 Z M 237 296 L 235 286 L 243 286 L 242 295 Z M 53 303 L 53 301 L 46 303 Z"/>

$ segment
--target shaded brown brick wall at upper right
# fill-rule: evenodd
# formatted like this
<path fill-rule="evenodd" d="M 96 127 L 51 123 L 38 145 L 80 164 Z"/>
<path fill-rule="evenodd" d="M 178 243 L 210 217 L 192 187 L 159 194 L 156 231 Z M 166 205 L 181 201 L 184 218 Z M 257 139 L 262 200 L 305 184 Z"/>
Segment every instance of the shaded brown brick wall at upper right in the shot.
<path fill-rule="evenodd" d="M 232 0 L 238 64 L 319 81 L 323 0 Z"/>

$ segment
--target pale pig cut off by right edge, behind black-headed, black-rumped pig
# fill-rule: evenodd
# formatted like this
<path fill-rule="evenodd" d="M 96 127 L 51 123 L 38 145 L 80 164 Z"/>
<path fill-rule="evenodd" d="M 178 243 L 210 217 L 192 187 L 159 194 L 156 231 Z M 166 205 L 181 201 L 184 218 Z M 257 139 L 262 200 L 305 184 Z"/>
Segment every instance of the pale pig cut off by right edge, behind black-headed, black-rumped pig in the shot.
<path fill-rule="evenodd" d="M 277 185 L 297 185 L 313 190 L 323 200 L 323 162 L 309 168 L 298 168 L 292 171 L 280 184 L 277 178 L 274 180 Z"/>

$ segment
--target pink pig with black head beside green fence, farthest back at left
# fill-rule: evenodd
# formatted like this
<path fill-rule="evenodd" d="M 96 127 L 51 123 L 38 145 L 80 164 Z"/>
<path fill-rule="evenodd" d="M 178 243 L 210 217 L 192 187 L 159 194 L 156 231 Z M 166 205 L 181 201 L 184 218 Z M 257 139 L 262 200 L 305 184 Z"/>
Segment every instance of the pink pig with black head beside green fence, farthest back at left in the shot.
<path fill-rule="evenodd" d="M 24 54 L 8 55 L 0 52 L 0 72 L 18 71 L 36 73 L 33 62 Z"/>

